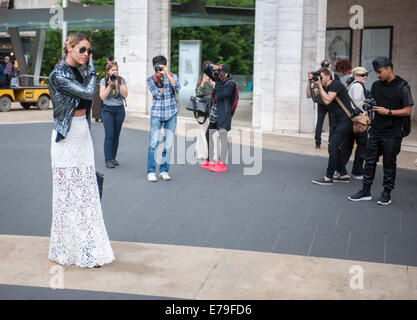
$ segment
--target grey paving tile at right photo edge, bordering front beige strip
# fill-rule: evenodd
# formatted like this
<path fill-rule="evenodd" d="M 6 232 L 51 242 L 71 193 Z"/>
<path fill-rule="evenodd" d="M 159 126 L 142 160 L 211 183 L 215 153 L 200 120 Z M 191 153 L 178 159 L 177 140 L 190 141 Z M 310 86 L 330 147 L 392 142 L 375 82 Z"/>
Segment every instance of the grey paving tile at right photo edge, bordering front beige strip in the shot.
<path fill-rule="evenodd" d="M 388 233 L 386 263 L 417 265 L 417 235 Z"/>

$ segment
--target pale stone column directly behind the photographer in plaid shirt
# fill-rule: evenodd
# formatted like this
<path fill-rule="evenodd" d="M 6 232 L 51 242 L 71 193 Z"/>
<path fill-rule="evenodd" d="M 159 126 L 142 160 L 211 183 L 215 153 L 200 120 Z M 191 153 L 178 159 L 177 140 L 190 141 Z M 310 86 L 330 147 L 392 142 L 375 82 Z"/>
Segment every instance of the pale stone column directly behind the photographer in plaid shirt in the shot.
<path fill-rule="evenodd" d="M 153 73 L 152 58 L 170 60 L 170 0 L 115 1 L 114 57 L 127 80 L 130 115 L 149 114 L 152 96 L 146 78 Z"/>

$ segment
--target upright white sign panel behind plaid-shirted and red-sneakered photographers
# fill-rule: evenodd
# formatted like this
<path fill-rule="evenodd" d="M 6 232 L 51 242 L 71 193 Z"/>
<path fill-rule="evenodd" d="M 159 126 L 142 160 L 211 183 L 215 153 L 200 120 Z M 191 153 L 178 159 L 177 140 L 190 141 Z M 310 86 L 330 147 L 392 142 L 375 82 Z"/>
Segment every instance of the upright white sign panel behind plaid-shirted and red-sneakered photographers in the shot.
<path fill-rule="evenodd" d="M 181 107 L 188 103 L 191 96 L 195 96 L 201 69 L 201 40 L 180 40 L 178 78 L 181 89 L 178 100 Z"/>

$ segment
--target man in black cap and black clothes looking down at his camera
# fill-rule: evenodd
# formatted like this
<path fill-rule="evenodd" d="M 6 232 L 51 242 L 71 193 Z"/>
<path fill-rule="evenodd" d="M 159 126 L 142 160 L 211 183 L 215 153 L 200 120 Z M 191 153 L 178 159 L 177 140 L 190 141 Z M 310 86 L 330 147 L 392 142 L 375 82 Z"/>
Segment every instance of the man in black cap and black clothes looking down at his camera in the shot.
<path fill-rule="evenodd" d="M 394 189 L 397 170 L 397 156 L 401 151 L 406 117 L 413 109 L 413 98 L 408 83 L 396 76 L 393 64 L 386 57 L 378 57 L 372 65 L 379 81 L 374 82 L 371 96 L 375 99 L 372 110 L 375 117 L 369 132 L 368 151 L 365 160 L 363 188 L 349 197 L 351 201 L 370 201 L 371 186 L 375 177 L 379 157 L 383 156 L 384 191 L 378 204 L 390 205 L 391 191 Z"/>

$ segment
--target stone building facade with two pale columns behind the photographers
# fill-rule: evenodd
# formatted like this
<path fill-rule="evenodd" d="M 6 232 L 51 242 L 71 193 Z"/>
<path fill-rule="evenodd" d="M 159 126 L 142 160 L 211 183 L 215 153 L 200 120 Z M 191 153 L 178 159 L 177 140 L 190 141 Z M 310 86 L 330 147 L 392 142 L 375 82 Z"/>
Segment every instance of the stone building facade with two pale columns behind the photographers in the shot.
<path fill-rule="evenodd" d="M 317 70 L 328 53 L 327 30 L 351 30 L 354 5 L 363 8 L 365 33 L 390 30 L 388 53 L 395 72 L 410 83 L 417 99 L 417 0 L 257 0 L 252 127 L 314 131 L 315 111 L 305 97 L 307 73 Z M 116 1 L 115 59 L 129 81 L 132 115 L 149 114 L 152 97 L 145 79 L 153 72 L 153 56 L 170 56 L 170 18 L 169 0 Z M 361 52 L 369 45 L 363 43 L 363 32 L 350 31 L 353 66 L 363 62 Z"/>

